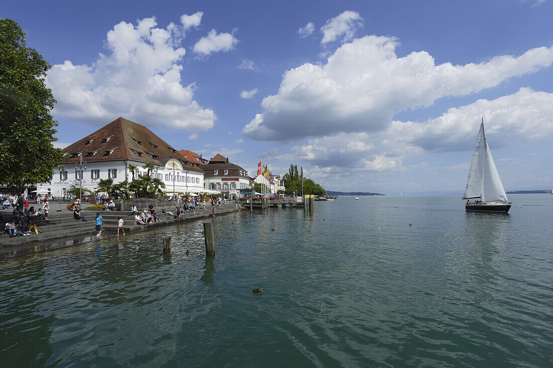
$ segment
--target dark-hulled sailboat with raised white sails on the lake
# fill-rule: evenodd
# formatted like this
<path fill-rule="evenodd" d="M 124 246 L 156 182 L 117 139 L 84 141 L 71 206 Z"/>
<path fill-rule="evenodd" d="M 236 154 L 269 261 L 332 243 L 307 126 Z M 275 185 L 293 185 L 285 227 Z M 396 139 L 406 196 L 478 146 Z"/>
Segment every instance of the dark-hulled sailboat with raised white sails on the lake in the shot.
<path fill-rule="evenodd" d="M 484 118 L 472 152 L 471 168 L 468 170 L 467 188 L 463 199 L 467 199 L 467 211 L 507 213 L 511 208 L 511 202 L 505 194 L 484 134 Z M 477 200 L 471 202 L 471 199 Z"/>

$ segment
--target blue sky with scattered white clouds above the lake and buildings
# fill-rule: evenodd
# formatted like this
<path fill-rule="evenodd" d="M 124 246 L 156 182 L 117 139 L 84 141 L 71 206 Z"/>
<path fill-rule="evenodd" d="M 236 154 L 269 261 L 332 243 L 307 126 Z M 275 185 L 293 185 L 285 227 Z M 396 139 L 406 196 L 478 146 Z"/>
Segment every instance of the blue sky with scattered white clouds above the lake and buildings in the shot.
<path fill-rule="evenodd" d="M 553 187 L 552 1 L 3 1 L 50 62 L 59 145 L 119 116 L 327 190 Z"/>

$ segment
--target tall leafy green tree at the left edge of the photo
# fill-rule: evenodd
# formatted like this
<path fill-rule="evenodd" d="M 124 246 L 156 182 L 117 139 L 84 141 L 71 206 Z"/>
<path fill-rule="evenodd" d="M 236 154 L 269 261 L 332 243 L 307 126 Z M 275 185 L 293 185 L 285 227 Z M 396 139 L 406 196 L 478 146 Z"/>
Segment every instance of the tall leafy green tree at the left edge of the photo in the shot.
<path fill-rule="evenodd" d="M 44 85 L 50 64 L 25 47 L 23 30 L 0 19 L 0 178 L 9 187 L 49 182 L 62 159 L 53 142 L 56 102 Z"/>

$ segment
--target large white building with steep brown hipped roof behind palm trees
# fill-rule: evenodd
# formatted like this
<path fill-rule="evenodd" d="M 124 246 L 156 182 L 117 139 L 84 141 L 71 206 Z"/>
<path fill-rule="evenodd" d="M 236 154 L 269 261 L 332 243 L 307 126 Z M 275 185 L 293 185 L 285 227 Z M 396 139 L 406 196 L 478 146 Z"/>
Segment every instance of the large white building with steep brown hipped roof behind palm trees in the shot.
<path fill-rule="evenodd" d="M 65 148 L 66 158 L 49 183 L 38 190 L 51 196 L 64 196 L 71 185 L 95 191 L 100 179 L 113 183 L 131 182 L 145 174 L 144 165 L 154 166 L 154 177 L 165 183 L 166 193 L 198 193 L 204 190 L 204 171 L 186 159 L 144 125 L 118 118 Z"/>

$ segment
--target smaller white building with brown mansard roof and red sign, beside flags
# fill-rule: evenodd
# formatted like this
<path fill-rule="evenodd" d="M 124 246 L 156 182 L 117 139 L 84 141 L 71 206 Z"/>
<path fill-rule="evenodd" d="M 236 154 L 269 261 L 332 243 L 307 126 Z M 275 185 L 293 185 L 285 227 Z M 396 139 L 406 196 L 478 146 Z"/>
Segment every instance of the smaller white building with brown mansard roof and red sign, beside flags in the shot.
<path fill-rule="evenodd" d="M 250 187 L 248 172 L 229 162 L 228 157 L 217 154 L 200 168 L 205 172 L 205 188 L 220 191 L 227 199 L 236 199 L 241 189 Z"/>

